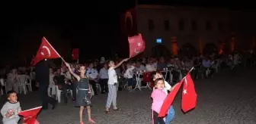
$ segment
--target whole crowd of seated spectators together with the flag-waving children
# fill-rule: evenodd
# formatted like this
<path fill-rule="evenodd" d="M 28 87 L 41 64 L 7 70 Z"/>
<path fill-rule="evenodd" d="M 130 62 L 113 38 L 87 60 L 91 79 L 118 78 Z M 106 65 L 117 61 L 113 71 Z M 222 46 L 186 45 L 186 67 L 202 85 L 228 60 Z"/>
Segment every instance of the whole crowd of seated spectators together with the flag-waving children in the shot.
<path fill-rule="evenodd" d="M 3 122 L 8 124 L 10 121 L 18 122 L 18 116 L 13 116 L 12 113 L 21 111 L 18 103 L 17 93 L 19 92 L 18 84 L 19 76 L 25 74 L 30 79 L 30 83 L 34 85 L 34 90 L 39 89 L 40 99 L 42 101 L 43 110 L 48 109 L 48 103 L 53 104 L 55 108 L 58 91 L 62 91 L 64 103 L 69 102 L 68 93 L 72 95 L 72 101 L 75 106 L 80 107 L 79 119 L 83 123 L 82 113 L 86 107 L 88 112 L 88 121 L 95 123 L 91 117 L 91 97 L 97 97 L 99 94 L 108 94 L 106 103 L 106 114 L 110 114 L 110 105 L 113 105 L 113 110 L 120 110 L 117 107 L 117 90 L 126 88 L 129 91 L 134 91 L 136 87 L 136 72 L 150 72 L 152 76 L 152 117 L 155 123 L 165 122 L 163 118 L 158 118 L 159 108 L 168 91 L 171 91 L 175 82 L 178 82 L 180 76 L 191 71 L 193 79 L 211 78 L 215 72 L 222 67 L 230 67 L 235 70 L 235 67 L 255 66 L 254 52 L 251 52 L 251 57 L 246 57 L 243 54 L 234 52 L 229 55 L 206 54 L 198 56 L 172 56 L 172 57 L 142 57 L 131 59 L 92 60 L 86 64 L 68 64 L 63 62 L 62 65 L 53 67 L 50 66 L 48 60 L 42 60 L 35 67 L 20 67 L 20 68 L 4 68 L 1 70 L 1 90 L 7 92 L 8 102 L 2 107 L 1 113 Z M 171 70 L 169 73 L 173 76 L 173 80 L 163 78 L 162 70 Z M 27 81 L 28 82 L 28 81 Z M 142 83 L 142 85 L 145 85 Z M 163 92 L 162 92 L 163 91 Z M 60 100 L 59 100 L 60 101 Z M 15 105 L 14 105 L 15 104 Z M 6 110 L 9 106 L 14 106 L 10 110 Z M 171 107 L 172 108 L 172 107 Z M 172 109 L 173 110 L 173 109 Z M 174 111 L 174 110 L 173 110 Z M 172 115 L 174 116 L 174 115 Z"/>

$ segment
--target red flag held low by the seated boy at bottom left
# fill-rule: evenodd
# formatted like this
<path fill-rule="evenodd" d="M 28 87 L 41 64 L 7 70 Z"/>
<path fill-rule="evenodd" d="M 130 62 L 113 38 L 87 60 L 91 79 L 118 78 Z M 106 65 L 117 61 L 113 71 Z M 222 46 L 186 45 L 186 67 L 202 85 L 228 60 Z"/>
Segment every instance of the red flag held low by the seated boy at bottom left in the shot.
<path fill-rule="evenodd" d="M 35 107 L 30 110 L 24 110 L 18 113 L 18 115 L 23 116 L 23 124 L 39 124 L 37 121 L 37 114 L 40 112 L 42 107 Z"/>

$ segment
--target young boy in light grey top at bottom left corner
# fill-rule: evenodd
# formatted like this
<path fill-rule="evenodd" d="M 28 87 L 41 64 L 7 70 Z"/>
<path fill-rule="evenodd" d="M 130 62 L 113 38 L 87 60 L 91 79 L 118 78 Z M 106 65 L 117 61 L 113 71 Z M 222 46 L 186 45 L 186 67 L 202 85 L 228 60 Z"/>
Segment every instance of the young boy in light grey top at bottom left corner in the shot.
<path fill-rule="evenodd" d="M 4 124 L 18 124 L 20 117 L 18 113 L 21 112 L 20 102 L 17 101 L 17 93 L 15 91 L 8 91 L 8 101 L 1 109 L 3 116 L 2 122 Z"/>

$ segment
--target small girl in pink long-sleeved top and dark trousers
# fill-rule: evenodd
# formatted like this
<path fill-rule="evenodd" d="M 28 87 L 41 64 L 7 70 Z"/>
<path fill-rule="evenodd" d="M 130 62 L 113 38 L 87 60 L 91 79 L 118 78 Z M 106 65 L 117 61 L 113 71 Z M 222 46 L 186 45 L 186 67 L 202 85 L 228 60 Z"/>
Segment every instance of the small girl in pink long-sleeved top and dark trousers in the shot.
<path fill-rule="evenodd" d="M 161 110 L 162 104 L 167 96 L 164 91 L 165 81 L 164 79 L 155 79 L 155 90 L 152 91 L 151 98 L 152 103 L 152 121 L 154 124 L 165 124 L 164 119 L 158 117 L 158 113 Z"/>

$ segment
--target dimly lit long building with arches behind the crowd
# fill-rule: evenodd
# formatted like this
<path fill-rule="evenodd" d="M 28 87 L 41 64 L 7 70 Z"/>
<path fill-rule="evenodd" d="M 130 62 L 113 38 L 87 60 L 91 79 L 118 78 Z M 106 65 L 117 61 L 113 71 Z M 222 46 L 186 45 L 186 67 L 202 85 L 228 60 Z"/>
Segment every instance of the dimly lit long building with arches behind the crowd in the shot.
<path fill-rule="evenodd" d="M 137 5 L 122 15 L 121 31 L 123 37 L 142 33 L 149 54 L 155 45 L 165 45 L 174 54 L 184 45 L 193 45 L 199 52 L 207 44 L 228 51 L 245 50 L 255 45 L 251 14 L 254 11 Z"/>

